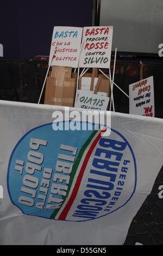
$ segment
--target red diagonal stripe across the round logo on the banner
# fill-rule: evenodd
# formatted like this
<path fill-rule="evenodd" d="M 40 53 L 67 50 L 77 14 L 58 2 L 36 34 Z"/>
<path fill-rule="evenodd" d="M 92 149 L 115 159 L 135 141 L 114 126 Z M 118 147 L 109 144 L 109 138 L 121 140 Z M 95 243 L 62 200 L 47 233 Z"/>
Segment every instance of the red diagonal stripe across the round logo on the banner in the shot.
<path fill-rule="evenodd" d="M 103 129 L 102 132 L 100 132 L 98 134 L 98 136 L 96 137 L 95 141 L 93 141 L 91 147 L 89 148 L 89 150 L 87 151 L 87 154 L 85 156 L 85 160 L 83 161 L 83 164 L 82 164 L 82 168 L 80 169 L 80 172 L 79 172 L 79 175 L 78 175 L 78 178 L 77 178 L 77 181 L 76 181 L 76 184 L 73 188 L 73 191 L 72 191 L 72 194 L 71 194 L 71 197 L 70 199 L 68 200 L 64 210 L 62 210 L 58 220 L 65 220 L 66 217 L 67 217 L 67 214 L 68 214 L 68 211 L 70 211 L 70 208 L 74 202 L 74 199 L 76 199 L 76 196 L 77 196 L 77 193 L 78 193 L 78 190 L 79 190 L 79 187 L 80 187 L 80 184 L 81 184 L 81 181 L 82 181 L 82 178 L 83 178 L 83 175 L 84 175 L 84 172 L 85 172 L 85 168 L 87 166 L 87 163 L 90 159 L 90 156 L 93 152 L 93 150 L 95 149 L 96 147 L 96 144 L 98 143 L 99 139 L 101 138 L 101 136 L 103 135 L 103 133 L 106 131 L 106 129 Z"/>

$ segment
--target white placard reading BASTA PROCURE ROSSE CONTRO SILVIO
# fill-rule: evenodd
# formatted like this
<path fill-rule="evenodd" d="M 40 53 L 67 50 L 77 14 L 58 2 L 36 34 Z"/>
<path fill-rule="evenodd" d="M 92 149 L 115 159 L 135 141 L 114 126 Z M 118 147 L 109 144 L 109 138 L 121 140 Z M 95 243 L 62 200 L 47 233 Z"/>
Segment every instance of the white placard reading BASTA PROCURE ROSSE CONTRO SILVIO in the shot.
<path fill-rule="evenodd" d="M 84 27 L 81 68 L 110 68 L 113 27 Z"/>

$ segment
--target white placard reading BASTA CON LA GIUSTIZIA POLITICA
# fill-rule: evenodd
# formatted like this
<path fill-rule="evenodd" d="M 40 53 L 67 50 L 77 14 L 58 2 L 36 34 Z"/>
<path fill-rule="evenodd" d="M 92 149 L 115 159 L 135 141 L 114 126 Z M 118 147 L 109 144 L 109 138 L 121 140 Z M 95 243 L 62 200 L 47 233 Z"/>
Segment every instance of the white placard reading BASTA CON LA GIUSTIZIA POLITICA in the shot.
<path fill-rule="evenodd" d="M 78 68 L 82 31 L 78 27 L 54 27 L 49 60 L 53 52 L 54 56 L 49 65 Z"/>

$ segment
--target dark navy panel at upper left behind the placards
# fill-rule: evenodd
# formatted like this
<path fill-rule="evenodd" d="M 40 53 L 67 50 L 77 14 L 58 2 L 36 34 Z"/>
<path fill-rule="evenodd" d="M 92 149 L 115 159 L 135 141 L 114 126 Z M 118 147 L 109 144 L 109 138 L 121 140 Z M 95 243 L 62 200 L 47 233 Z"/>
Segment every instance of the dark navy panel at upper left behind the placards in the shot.
<path fill-rule="evenodd" d="M 54 26 L 91 26 L 91 0 L 8 0 L 0 4 L 3 59 L 49 55 Z"/>

